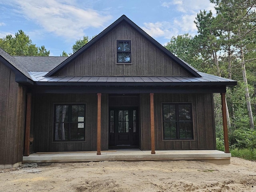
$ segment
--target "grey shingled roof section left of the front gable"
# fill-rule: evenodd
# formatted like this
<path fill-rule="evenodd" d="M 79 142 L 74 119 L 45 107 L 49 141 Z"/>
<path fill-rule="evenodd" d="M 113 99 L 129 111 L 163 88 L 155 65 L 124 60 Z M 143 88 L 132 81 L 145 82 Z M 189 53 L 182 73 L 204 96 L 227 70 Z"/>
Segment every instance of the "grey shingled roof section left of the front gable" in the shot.
<path fill-rule="evenodd" d="M 60 56 L 13 56 L 28 71 L 51 71 L 68 57 Z"/>

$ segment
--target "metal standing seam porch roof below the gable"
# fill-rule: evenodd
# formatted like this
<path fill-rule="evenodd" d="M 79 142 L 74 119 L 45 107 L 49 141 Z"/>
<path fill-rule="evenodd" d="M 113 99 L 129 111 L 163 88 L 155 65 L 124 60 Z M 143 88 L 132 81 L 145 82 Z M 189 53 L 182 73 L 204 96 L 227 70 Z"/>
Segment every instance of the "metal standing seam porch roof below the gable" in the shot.
<path fill-rule="evenodd" d="M 177 84 L 190 84 L 190 85 L 200 85 L 200 84 L 220 84 L 227 86 L 236 85 L 236 81 L 230 80 L 227 78 L 222 78 L 219 76 L 214 76 L 210 74 L 206 74 L 203 72 L 198 72 L 202 77 L 175 77 L 175 76 L 51 76 L 46 77 L 45 75 L 48 72 L 30 72 L 33 80 L 38 82 L 38 84 L 45 83 L 51 84 L 56 82 L 66 82 L 66 83 L 86 83 L 86 84 L 138 84 L 138 85 L 150 85 L 150 84 L 168 84 L 168 85 L 177 85 Z"/>

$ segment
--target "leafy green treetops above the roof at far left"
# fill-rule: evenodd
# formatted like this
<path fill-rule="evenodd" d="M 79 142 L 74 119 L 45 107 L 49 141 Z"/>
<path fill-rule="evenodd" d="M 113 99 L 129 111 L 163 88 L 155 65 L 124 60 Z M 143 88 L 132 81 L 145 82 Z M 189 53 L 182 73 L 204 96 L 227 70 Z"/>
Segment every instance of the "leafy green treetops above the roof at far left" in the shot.
<path fill-rule="evenodd" d="M 0 47 L 13 56 L 49 56 L 44 46 L 37 47 L 22 30 L 18 30 L 15 36 L 7 35 L 0 38 Z"/>

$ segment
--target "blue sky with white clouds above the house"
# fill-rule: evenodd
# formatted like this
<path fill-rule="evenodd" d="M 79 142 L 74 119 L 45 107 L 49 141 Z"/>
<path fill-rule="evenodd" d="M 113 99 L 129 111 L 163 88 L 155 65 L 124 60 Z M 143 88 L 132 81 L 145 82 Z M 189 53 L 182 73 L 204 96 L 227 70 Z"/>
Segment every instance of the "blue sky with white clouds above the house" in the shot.
<path fill-rule="evenodd" d="M 72 52 L 83 36 L 95 36 L 123 14 L 165 45 L 172 36 L 197 34 L 200 10 L 215 14 L 209 0 L 1 0 L 0 38 L 23 30 L 50 56 Z"/>

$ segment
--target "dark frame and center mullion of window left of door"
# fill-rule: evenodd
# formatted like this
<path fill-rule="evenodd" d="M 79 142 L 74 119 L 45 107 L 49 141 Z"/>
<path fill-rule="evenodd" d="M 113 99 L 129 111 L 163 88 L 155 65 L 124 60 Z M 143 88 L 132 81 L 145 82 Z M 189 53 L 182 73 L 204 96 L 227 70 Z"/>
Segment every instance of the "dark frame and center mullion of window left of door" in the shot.
<path fill-rule="evenodd" d="M 79 123 L 77 122 L 72 122 L 68 121 L 66 123 L 69 124 L 68 127 L 68 140 L 55 140 L 55 125 L 56 125 L 56 106 L 61 105 L 68 105 L 71 106 L 71 109 L 69 111 L 72 111 L 72 106 L 73 105 L 83 105 L 84 106 L 84 139 L 83 140 L 71 140 L 71 128 L 70 128 L 70 124 L 72 123 Z M 72 114 L 72 113 L 71 113 Z M 70 118 L 72 117 L 72 115 L 70 116 L 70 114 L 68 114 L 68 118 L 70 120 Z M 52 143 L 79 143 L 79 142 L 87 142 L 87 103 L 75 103 L 75 102 L 61 102 L 61 103 L 53 103 L 53 115 L 52 115 Z"/>

